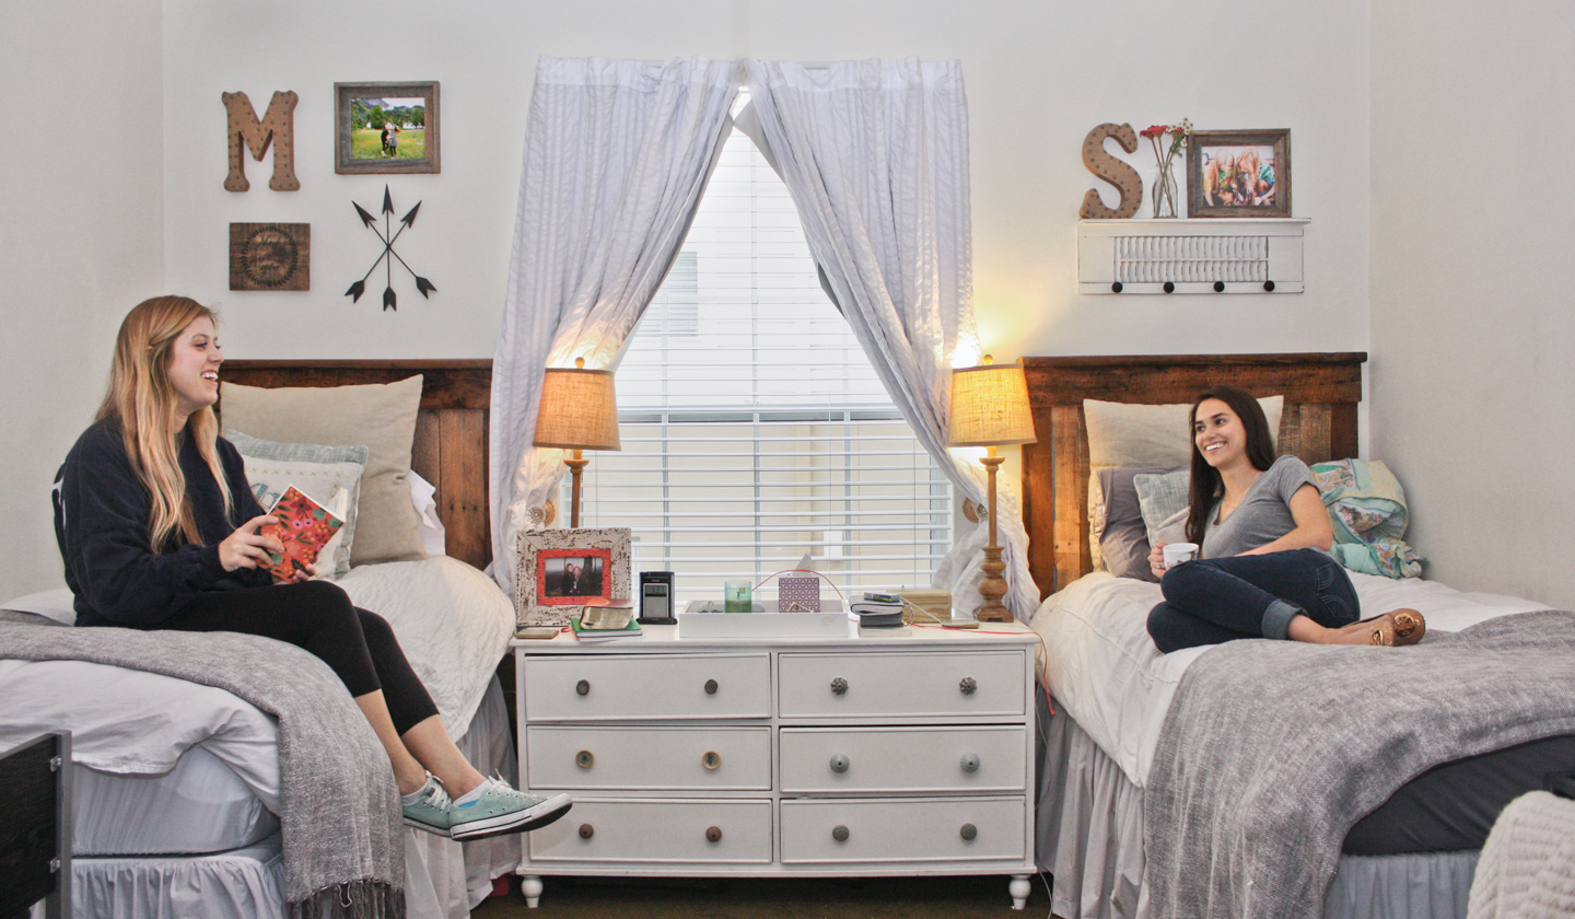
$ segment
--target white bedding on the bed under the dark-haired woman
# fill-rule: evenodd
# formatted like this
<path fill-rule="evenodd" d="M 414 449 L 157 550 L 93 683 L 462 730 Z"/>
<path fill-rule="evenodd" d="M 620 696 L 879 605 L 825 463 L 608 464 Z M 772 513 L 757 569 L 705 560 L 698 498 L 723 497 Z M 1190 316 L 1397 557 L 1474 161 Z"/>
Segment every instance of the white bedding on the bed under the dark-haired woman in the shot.
<path fill-rule="evenodd" d="M 1509 613 L 1545 610 L 1532 601 L 1465 593 L 1438 582 L 1350 572 L 1364 615 L 1411 607 L 1429 631 L 1454 632 Z M 1040 605 L 1032 627 L 1044 638 L 1051 695 L 1066 706 L 1121 772 L 1147 787 L 1166 709 L 1186 668 L 1208 648 L 1161 654 L 1148 637 L 1159 585 L 1084 575 Z"/>

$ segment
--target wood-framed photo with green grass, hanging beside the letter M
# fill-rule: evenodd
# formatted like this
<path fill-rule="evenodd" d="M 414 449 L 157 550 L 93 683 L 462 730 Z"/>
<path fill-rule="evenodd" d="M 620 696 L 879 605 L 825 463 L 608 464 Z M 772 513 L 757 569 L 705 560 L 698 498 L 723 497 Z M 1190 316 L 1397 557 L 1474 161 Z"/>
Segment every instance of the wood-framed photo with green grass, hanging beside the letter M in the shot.
<path fill-rule="evenodd" d="M 334 84 L 334 172 L 443 172 L 438 84 Z"/>

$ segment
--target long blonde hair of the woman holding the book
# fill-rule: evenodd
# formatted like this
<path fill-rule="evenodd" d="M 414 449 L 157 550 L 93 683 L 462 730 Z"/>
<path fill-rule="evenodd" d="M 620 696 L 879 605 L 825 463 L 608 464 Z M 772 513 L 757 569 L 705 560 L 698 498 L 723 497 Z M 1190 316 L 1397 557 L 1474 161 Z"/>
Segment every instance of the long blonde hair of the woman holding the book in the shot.
<path fill-rule="evenodd" d="M 126 314 L 115 336 L 115 361 L 109 372 L 109 393 L 99 405 L 98 421 L 113 418 L 126 445 L 131 468 L 142 479 L 151 498 L 148 508 L 148 539 L 154 552 L 180 531 L 184 542 L 202 544 L 191 501 L 186 500 L 186 474 L 181 473 L 180 419 L 176 419 L 175 385 L 170 383 L 170 352 L 186 326 L 214 314 L 187 296 L 154 296 L 143 300 Z M 219 419 L 211 405 L 194 411 L 184 422 L 186 435 L 213 470 L 224 512 L 233 511 L 230 484 L 219 463 Z"/>

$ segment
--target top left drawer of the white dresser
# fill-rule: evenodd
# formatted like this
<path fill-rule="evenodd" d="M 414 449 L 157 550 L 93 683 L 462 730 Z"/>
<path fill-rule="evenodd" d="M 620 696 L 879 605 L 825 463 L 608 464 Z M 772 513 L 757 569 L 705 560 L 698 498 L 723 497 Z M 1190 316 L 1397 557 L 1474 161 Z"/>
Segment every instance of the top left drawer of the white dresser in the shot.
<path fill-rule="evenodd" d="M 770 714 L 767 654 L 524 657 L 524 719 L 736 719 Z"/>

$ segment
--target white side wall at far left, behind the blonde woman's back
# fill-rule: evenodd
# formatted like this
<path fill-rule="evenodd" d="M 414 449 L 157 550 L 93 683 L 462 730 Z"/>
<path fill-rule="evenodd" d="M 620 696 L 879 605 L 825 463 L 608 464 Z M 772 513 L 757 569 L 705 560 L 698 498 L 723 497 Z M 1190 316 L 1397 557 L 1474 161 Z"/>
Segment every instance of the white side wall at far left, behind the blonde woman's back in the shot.
<path fill-rule="evenodd" d="M 0 5 L 0 599 L 61 583 L 49 484 L 164 285 L 159 2 Z"/>

